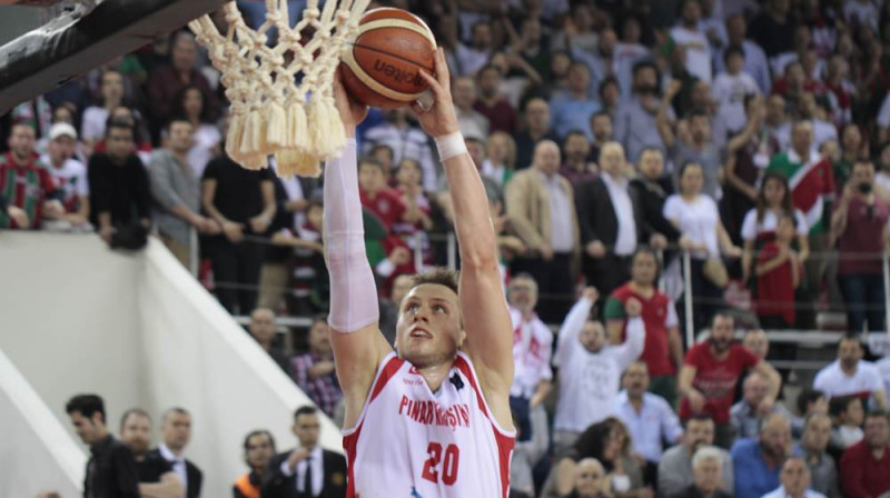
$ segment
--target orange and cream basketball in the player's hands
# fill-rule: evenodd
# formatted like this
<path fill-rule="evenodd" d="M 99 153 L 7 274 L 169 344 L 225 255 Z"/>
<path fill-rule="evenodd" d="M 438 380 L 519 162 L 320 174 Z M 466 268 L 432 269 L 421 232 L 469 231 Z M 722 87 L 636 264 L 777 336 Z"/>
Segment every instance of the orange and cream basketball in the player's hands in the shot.
<path fill-rule="evenodd" d="M 343 84 L 367 106 L 407 106 L 427 89 L 419 71 L 435 73 L 435 52 L 436 39 L 417 16 L 393 8 L 369 10 L 343 57 Z"/>

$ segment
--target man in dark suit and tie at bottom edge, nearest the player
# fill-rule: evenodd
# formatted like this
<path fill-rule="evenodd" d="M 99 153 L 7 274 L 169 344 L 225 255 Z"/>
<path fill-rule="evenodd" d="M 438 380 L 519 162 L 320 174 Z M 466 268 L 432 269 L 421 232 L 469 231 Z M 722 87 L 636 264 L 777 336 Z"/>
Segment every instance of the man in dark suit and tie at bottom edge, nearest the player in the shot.
<path fill-rule="evenodd" d="M 346 458 L 318 446 L 322 425 L 313 406 L 294 412 L 294 436 L 298 446 L 273 458 L 269 475 L 263 484 L 263 496 L 344 498 L 346 496 Z"/>

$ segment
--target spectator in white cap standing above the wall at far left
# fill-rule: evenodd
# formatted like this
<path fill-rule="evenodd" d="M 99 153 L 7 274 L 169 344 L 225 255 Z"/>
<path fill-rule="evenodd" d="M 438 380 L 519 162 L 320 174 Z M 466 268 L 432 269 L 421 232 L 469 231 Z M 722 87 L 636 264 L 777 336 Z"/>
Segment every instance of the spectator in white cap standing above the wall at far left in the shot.
<path fill-rule="evenodd" d="M 60 229 L 88 230 L 90 213 L 90 188 L 87 183 L 87 167 L 76 159 L 77 131 L 67 122 L 57 122 L 49 129 L 47 153 L 40 162 L 56 180 L 60 201 L 66 215 L 59 220 Z"/>

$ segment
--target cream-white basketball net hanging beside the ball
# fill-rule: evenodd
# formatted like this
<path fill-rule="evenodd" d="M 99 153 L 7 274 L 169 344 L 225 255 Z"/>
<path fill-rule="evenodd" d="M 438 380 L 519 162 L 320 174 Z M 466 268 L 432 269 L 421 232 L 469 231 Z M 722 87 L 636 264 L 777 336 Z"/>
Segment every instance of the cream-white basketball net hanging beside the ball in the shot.
<path fill-rule="evenodd" d="M 226 152 L 247 169 L 268 167 L 274 156 L 281 177 L 317 177 L 320 161 L 346 143 L 334 104 L 334 71 L 370 0 L 309 0 L 303 19 L 289 26 L 287 0 L 265 0 L 266 22 L 249 28 L 235 2 L 225 6 L 226 33 L 208 16 L 189 23 L 222 73 L 231 102 Z M 267 44 L 276 28 L 278 42 Z M 304 31 L 313 31 L 303 44 Z M 299 83 L 297 81 L 299 80 Z"/>

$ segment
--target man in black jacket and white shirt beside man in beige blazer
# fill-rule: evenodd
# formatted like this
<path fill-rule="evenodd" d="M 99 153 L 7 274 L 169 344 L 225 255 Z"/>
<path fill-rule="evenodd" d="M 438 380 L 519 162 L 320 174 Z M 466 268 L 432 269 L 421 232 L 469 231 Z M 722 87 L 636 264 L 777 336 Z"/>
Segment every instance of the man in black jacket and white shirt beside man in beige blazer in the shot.
<path fill-rule="evenodd" d="M 601 175 L 580 182 L 575 209 L 584 247 L 583 269 L 587 282 L 609 296 L 627 281 L 631 256 L 645 237 L 639 200 L 631 197 L 624 148 L 609 142 L 600 153 Z M 650 243 L 664 247 L 663 236 L 653 235 Z"/>

